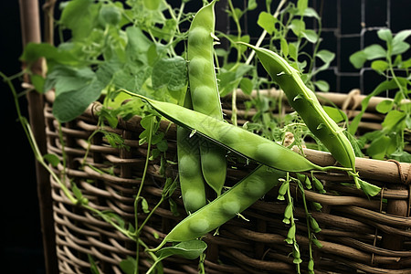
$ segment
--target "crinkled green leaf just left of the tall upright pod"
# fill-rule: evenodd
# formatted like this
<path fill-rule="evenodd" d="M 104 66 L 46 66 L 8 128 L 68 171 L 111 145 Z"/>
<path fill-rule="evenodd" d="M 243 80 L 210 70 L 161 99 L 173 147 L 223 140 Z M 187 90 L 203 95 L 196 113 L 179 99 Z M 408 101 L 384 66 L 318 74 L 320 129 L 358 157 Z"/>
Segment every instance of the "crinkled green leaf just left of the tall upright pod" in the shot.
<path fill-rule="evenodd" d="M 180 91 L 187 85 L 187 62 L 182 57 L 161 58 L 153 66 L 154 90 Z"/>

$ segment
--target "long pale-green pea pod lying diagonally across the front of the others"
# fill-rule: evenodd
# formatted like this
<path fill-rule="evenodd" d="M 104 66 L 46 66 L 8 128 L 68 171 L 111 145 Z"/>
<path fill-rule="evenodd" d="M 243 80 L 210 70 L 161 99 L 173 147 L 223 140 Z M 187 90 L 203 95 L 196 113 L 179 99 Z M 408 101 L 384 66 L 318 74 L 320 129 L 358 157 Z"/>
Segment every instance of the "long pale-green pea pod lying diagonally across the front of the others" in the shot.
<path fill-rule="evenodd" d="M 130 91 L 126 92 L 147 101 L 155 111 L 168 120 L 193 130 L 192 134 L 199 133 L 205 138 L 226 147 L 228 150 L 269 167 L 288 172 L 327 171 L 331 169 L 346 170 L 336 166 L 320 166 L 311 163 L 304 156 L 291 151 L 277 142 L 272 142 L 226 121 L 216 120 L 208 115 L 188 110 L 174 103 L 151 100 Z"/>

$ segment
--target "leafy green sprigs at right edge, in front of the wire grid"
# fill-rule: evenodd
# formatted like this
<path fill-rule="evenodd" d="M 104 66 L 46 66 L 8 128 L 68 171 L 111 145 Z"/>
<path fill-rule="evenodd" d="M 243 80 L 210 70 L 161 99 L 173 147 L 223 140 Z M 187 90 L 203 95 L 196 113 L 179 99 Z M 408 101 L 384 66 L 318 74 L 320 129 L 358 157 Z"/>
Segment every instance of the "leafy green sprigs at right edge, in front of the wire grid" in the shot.
<path fill-rule="evenodd" d="M 406 39 L 411 36 L 411 30 L 406 29 L 393 35 L 390 29 L 384 28 L 377 32 L 383 45 L 374 44 L 353 53 L 350 61 L 355 68 L 363 68 L 366 62 L 371 62 L 371 68 L 382 75 L 381 82 L 362 102 L 360 115 L 355 117 L 348 127 L 351 133 L 357 132 L 369 100 L 386 92 L 394 92 L 394 100 L 383 100 L 376 106 L 376 111 L 385 114 L 382 131 L 367 132 L 360 138 L 366 153 L 374 159 L 396 159 L 411 162 L 411 155 L 405 151 L 406 135 L 411 128 L 410 117 L 410 85 L 411 58 L 403 59 L 409 50 Z M 408 100 L 408 101 L 406 101 Z"/>

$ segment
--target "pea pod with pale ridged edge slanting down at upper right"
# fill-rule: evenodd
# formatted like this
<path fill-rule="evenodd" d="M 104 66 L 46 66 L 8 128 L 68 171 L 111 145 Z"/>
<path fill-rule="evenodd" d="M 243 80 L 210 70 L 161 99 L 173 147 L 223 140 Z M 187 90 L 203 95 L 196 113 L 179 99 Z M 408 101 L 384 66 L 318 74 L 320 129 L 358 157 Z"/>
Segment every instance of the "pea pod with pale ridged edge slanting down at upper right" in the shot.
<path fill-rule="evenodd" d="M 286 94 L 291 107 L 300 114 L 310 131 L 327 147 L 335 160 L 355 172 L 355 154 L 351 142 L 342 128 L 322 109 L 314 92 L 303 83 L 299 72 L 269 49 L 241 44 L 257 53 L 263 67 Z"/>

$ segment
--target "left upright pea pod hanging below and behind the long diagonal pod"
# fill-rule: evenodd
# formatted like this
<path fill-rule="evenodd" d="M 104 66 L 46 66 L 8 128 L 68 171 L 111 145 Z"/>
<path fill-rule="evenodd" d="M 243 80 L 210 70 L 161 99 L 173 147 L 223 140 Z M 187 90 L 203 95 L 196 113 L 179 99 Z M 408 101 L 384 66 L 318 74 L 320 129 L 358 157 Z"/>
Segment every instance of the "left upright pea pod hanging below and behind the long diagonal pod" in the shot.
<path fill-rule="evenodd" d="M 186 92 L 184 107 L 191 108 L 190 92 Z M 190 136 L 191 131 L 177 126 L 178 176 L 184 208 L 193 213 L 206 205 L 205 180 L 201 172 L 199 136 Z"/>

